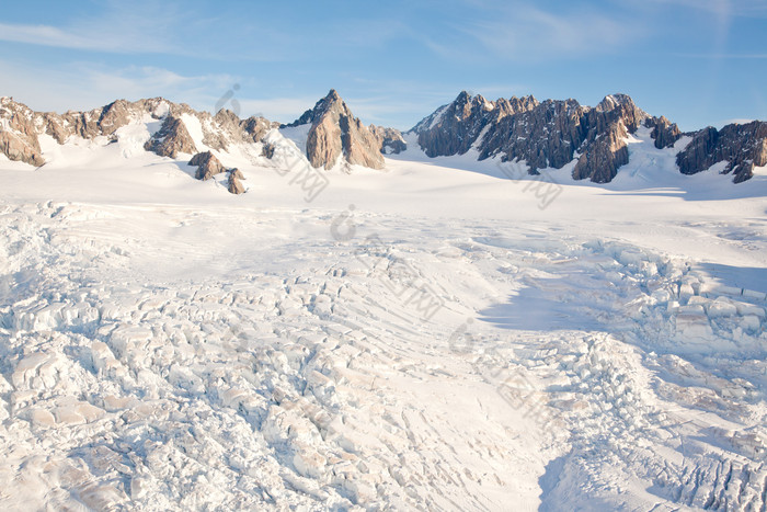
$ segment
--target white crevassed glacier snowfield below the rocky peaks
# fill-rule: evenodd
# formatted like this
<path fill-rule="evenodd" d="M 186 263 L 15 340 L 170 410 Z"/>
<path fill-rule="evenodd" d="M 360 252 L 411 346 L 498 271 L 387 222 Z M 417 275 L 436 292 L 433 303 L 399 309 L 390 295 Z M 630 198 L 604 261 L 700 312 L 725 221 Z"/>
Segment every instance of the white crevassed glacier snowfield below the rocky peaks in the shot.
<path fill-rule="evenodd" d="M 1 509 L 764 510 L 764 170 L 640 132 L 543 208 L 412 149 L 307 203 L 123 135 L 0 161 Z"/>

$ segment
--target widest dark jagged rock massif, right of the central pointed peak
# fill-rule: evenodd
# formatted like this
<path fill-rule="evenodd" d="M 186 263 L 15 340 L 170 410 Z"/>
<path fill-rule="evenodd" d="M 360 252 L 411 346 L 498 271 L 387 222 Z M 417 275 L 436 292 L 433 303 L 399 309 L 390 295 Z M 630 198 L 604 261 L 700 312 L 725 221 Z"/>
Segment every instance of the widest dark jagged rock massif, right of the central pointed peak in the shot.
<path fill-rule="evenodd" d="M 606 183 L 628 162 L 627 134 L 646 117 L 625 94 L 591 109 L 575 100 L 540 103 L 533 96 L 491 102 L 463 91 L 412 130 L 430 157 L 474 148 L 480 160 L 499 155 L 502 161 L 525 160 L 531 174 L 561 169 L 581 153 L 573 178 Z"/>

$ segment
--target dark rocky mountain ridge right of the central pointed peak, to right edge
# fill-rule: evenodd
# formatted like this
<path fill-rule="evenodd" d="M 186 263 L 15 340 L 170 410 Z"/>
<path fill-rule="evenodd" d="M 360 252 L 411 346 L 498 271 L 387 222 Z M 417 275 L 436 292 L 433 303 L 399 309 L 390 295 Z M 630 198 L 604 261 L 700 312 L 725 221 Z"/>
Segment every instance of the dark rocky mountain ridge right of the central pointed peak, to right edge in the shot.
<path fill-rule="evenodd" d="M 409 133 L 430 157 L 465 155 L 479 160 L 525 161 L 530 174 L 539 169 L 561 169 L 575 162 L 575 180 L 610 182 L 629 162 L 628 135 L 640 127 L 652 129 L 656 148 L 674 147 L 687 135 L 691 140 L 677 153 L 680 172 L 694 174 L 723 162 L 722 173 L 736 183 L 753 175 L 754 166 L 767 164 L 767 123 L 709 127 L 682 134 L 665 117 L 652 117 L 626 94 L 606 96 L 596 107 L 575 100 L 533 96 L 488 101 L 466 91 L 416 124 Z"/>

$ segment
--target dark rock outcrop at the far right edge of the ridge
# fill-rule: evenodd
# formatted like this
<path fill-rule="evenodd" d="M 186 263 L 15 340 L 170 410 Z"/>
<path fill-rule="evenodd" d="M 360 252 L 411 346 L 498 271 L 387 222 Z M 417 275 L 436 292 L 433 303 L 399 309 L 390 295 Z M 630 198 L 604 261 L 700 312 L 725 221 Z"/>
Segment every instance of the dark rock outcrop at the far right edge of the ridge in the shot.
<path fill-rule="evenodd" d="M 754 167 L 767 166 L 767 122 L 730 124 L 721 130 L 709 126 L 692 135 L 692 140 L 676 156 L 684 174 L 695 174 L 725 161 L 722 174 L 733 174 L 735 183 L 754 175 Z"/>

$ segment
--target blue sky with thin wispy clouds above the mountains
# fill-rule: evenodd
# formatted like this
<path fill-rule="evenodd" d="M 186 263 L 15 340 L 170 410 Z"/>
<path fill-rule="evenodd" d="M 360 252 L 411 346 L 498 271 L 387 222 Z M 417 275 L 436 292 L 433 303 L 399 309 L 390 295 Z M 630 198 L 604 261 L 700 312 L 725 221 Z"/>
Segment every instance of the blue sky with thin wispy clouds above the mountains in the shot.
<path fill-rule="evenodd" d="M 0 95 L 38 111 L 164 96 L 290 122 L 334 88 L 408 129 L 461 90 L 683 130 L 767 120 L 767 0 L 34 1 L 0 11 Z M 233 101 L 232 101 L 233 100 Z"/>

